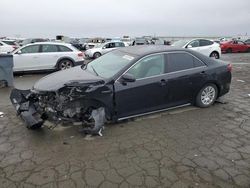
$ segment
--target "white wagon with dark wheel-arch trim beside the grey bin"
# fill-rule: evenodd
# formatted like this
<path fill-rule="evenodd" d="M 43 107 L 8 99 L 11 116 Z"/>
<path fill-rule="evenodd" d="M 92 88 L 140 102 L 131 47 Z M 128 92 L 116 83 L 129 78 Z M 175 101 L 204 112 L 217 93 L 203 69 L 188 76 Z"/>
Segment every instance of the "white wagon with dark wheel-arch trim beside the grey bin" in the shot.
<path fill-rule="evenodd" d="M 14 72 L 64 70 L 84 62 L 84 54 L 68 43 L 39 42 L 13 52 Z"/>

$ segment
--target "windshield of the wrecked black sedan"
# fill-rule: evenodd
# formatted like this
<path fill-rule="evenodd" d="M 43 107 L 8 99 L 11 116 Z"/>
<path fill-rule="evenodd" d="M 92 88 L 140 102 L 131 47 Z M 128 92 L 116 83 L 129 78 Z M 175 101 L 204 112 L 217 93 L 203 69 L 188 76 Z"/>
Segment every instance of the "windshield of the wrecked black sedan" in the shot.
<path fill-rule="evenodd" d="M 87 65 L 87 70 L 103 78 L 111 78 L 135 57 L 120 51 L 107 53 Z"/>

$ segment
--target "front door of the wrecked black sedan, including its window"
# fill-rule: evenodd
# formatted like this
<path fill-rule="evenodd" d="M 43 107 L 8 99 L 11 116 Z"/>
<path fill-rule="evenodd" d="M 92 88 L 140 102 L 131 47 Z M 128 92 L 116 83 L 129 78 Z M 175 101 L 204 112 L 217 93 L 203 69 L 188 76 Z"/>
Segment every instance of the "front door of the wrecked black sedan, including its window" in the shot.
<path fill-rule="evenodd" d="M 137 61 L 124 74 L 133 75 L 135 82 L 115 84 L 115 103 L 118 118 L 134 116 L 164 108 L 167 100 L 165 55 L 155 54 Z"/>

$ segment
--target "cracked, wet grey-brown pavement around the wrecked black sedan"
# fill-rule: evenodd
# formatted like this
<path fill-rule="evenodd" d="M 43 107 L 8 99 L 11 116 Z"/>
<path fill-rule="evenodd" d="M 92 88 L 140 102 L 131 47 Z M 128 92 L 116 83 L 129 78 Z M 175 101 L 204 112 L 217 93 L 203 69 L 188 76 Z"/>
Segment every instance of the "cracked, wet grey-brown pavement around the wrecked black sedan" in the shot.
<path fill-rule="evenodd" d="M 233 63 L 223 103 L 107 125 L 103 137 L 77 125 L 27 130 L 0 89 L 0 187 L 250 187 L 250 54 L 222 59 Z"/>

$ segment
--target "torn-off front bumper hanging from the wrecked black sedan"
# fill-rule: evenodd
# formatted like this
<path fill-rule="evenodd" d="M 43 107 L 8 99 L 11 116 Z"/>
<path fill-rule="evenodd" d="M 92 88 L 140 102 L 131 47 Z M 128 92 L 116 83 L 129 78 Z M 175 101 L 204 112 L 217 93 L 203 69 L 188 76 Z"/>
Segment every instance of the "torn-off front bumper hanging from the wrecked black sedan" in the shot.
<path fill-rule="evenodd" d="M 17 111 L 17 115 L 21 116 L 27 128 L 35 129 L 43 125 L 44 120 L 36 108 L 38 101 L 36 101 L 35 97 L 32 97 L 30 90 L 13 89 L 10 100 Z"/>

